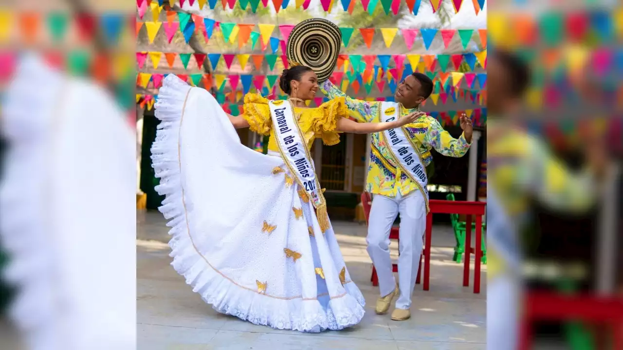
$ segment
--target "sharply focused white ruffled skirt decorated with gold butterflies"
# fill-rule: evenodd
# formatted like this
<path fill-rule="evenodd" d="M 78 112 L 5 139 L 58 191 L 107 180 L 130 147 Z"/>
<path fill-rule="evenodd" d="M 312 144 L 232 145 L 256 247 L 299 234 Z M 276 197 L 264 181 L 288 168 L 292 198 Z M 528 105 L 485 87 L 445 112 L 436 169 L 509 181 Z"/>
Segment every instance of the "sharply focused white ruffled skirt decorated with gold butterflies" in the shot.
<path fill-rule="evenodd" d="M 240 144 L 202 88 L 168 75 L 158 97 L 159 210 L 171 227 L 172 265 L 193 291 L 216 311 L 277 329 L 359 323 L 364 298 L 333 229 L 321 232 L 313 206 L 285 181 L 283 159 Z"/>

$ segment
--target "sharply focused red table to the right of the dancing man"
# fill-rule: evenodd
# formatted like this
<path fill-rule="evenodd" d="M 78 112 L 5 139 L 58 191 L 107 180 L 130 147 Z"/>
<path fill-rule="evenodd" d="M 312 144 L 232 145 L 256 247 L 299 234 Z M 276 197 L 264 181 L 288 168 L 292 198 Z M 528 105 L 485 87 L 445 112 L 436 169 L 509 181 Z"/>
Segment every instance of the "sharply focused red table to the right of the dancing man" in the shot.
<path fill-rule="evenodd" d="M 432 214 L 464 214 L 465 219 L 465 257 L 463 267 L 463 286 L 469 286 L 469 263 L 470 253 L 475 255 L 475 268 L 473 276 L 473 292 L 480 293 L 480 258 L 482 257 L 482 215 L 485 215 L 485 202 L 467 201 L 429 201 L 430 212 L 426 216 L 426 242 L 424 245 L 424 290 L 429 290 L 430 277 L 430 242 L 432 236 Z M 472 215 L 476 217 L 476 247 L 472 244 Z"/>

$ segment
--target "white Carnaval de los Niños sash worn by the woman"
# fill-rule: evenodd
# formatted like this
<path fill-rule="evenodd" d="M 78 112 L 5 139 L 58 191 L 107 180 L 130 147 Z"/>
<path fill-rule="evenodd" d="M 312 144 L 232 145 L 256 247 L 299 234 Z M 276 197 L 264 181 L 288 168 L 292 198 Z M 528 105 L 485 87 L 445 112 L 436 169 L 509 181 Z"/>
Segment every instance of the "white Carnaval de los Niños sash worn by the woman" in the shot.
<path fill-rule="evenodd" d="M 309 149 L 294 118 L 292 103 L 284 100 L 270 101 L 269 108 L 279 153 L 298 186 L 307 192 L 308 198 L 316 208 L 316 215 L 324 232 L 328 229 L 325 197 L 320 191 L 320 182 L 316 177 Z"/>

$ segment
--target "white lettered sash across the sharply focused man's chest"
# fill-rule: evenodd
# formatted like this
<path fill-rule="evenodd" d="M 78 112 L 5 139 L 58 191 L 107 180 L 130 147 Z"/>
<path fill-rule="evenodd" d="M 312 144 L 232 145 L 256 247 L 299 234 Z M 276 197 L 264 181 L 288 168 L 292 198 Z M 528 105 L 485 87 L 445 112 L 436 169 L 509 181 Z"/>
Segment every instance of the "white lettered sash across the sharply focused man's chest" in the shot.
<path fill-rule="evenodd" d="M 401 105 L 395 102 L 381 102 L 381 108 L 379 110 L 379 119 L 381 121 L 395 121 L 400 118 Z M 397 166 L 400 166 L 401 170 L 409 176 L 409 179 L 413 181 L 417 188 L 422 192 L 424 201 L 426 202 L 426 212 L 429 212 L 429 194 L 426 188 L 428 184 L 428 178 L 426 176 L 426 167 L 422 156 L 417 151 L 416 144 L 409 137 L 409 134 L 404 128 L 395 128 L 383 131 L 381 133 L 385 139 L 385 143 L 388 145 L 388 149 L 394 159 L 397 161 Z"/>

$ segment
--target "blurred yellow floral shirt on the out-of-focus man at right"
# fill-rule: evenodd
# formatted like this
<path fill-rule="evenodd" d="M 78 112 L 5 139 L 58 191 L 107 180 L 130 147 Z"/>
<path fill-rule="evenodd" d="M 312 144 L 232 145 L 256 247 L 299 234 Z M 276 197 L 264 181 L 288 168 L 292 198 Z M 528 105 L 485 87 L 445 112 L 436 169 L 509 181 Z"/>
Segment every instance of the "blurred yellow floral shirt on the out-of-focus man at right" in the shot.
<path fill-rule="evenodd" d="M 498 125 L 495 120 L 487 124 L 490 135 L 499 135 L 487 142 L 488 186 L 495 191 L 513 227 L 526 224 L 533 200 L 552 209 L 576 212 L 594 204 L 594 177 L 589 171 L 571 173 L 543 142 L 523 130 Z M 506 271 L 503 254 L 489 247 L 487 255 L 488 278 Z"/>

